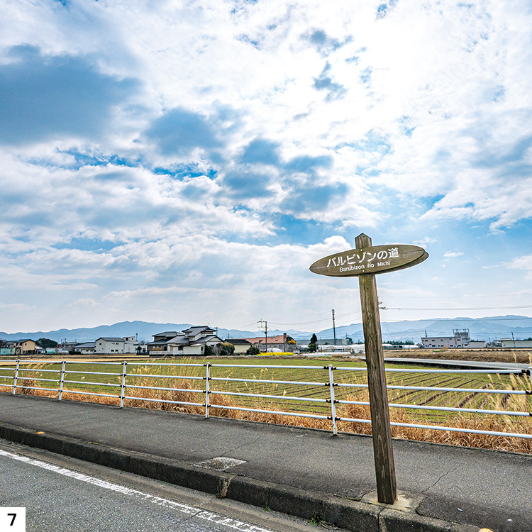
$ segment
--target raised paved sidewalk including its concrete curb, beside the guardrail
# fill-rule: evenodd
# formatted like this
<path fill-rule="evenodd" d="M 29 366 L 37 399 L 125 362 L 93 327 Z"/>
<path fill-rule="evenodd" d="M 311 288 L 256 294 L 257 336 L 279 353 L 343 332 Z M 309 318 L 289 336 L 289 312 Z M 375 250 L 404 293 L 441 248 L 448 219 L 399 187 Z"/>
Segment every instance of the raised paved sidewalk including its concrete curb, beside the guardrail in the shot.
<path fill-rule="evenodd" d="M 354 531 L 532 531 L 527 455 L 394 440 L 403 511 L 372 504 L 367 436 L 0 394 L 0 438 Z"/>

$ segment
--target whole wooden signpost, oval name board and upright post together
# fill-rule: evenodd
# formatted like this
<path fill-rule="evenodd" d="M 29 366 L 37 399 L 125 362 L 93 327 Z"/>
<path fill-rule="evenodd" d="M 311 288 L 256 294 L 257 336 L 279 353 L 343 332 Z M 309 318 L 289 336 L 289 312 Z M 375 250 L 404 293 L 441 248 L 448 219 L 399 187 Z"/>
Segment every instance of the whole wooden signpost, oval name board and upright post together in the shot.
<path fill-rule="evenodd" d="M 364 233 L 355 238 L 355 245 L 354 250 L 335 253 L 317 260 L 311 265 L 310 270 L 332 277 L 358 276 L 377 475 L 377 499 L 385 504 L 394 504 L 397 501 L 397 484 L 375 274 L 395 272 L 414 266 L 426 260 L 428 253 L 416 245 L 372 246 L 371 238 Z"/>

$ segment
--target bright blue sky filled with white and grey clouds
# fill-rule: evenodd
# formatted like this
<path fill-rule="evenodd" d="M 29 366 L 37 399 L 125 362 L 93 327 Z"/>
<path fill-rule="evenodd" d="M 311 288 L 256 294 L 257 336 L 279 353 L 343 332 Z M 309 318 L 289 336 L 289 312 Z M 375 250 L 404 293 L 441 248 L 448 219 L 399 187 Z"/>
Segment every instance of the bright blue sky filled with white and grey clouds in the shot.
<path fill-rule="evenodd" d="M 0 330 L 532 316 L 528 0 L 6 0 Z"/>

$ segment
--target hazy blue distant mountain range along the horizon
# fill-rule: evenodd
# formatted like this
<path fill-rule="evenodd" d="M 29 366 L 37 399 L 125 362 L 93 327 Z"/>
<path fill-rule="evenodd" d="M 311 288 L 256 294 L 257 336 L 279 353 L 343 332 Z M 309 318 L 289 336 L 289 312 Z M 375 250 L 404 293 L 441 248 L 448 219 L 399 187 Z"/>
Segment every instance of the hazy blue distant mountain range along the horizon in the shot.
<path fill-rule="evenodd" d="M 146 321 L 121 321 L 113 325 L 101 325 L 92 328 L 57 329 L 57 331 L 36 331 L 32 333 L 4 333 L 0 331 L 0 338 L 4 340 L 19 340 L 21 338 L 50 338 L 50 340 L 87 342 L 96 340 L 101 336 L 135 336 L 138 340 L 149 342 L 153 335 L 162 331 L 182 331 L 190 327 L 191 323 L 151 323 Z M 197 323 L 194 325 L 198 325 Z M 199 323 L 199 325 L 204 325 Z M 532 337 L 532 318 L 527 316 L 490 316 L 486 318 L 435 318 L 416 321 L 383 321 L 381 323 L 382 340 L 412 340 L 414 343 L 421 341 L 421 336 L 452 336 L 453 329 L 469 329 L 473 340 L 498 340 L 500 338 L 523 339 Z M 288 329 L 268 330 L 268 336 L 288 333 L 296 340 L 310 338 L 316 333 L 318 338 L 333 338 L 333 328 L 323 331 L 296 331 Z M 262 331 L 240 331 L 238 329 L 218 328 L 221 338 L 253 338 L 262 335 Z M 353 342 L 363 340 L 362 324 L 336 327 L 336 338 L 349 336 Z"/>

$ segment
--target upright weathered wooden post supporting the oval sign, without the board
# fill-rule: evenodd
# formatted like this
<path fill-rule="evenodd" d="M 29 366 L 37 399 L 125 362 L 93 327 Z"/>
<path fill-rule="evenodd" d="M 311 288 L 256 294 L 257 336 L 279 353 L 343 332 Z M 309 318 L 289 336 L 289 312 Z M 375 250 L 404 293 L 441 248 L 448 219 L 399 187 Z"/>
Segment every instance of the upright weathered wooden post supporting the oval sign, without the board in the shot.
<path fill-rule="evenodd" d="M 355 239 L 355 243 L 356 248 L 363 251 L 365 248 L 371 247 L 371 238 L 362 233 Z M 366 350 L 367 384 L 370 392 L 377 499 L 385 504 L 394 504 L 397 501 L 397 484 L 392 449 L 392 430 L 389 424 L 386 373 L 384 372 L 379 299 L 375 274 L 360 275 L 358 282 Z"/>

